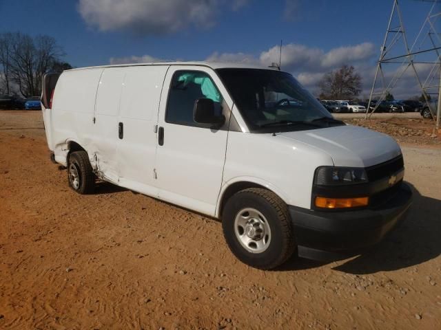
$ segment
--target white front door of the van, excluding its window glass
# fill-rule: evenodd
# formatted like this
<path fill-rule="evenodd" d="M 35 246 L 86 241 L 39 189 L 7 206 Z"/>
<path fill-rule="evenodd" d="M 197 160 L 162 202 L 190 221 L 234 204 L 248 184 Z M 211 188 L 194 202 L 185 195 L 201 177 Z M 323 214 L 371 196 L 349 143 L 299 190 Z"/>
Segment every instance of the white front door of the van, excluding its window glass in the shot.
<path fill-rule="evenodd" d="M 165 122 L 167 96 L 174 72 L 194 70 L 211 76 L 227 107 L 232 100 L 212 69 L 172 66 L 165 78 L 158 126 L 164 130 L 164 144 L 156 153 L 159 198 L 198 212 L 214 215 L 222 184 L 228 131 Z M 223 109 L 223 111 L 229 111 Z"/>

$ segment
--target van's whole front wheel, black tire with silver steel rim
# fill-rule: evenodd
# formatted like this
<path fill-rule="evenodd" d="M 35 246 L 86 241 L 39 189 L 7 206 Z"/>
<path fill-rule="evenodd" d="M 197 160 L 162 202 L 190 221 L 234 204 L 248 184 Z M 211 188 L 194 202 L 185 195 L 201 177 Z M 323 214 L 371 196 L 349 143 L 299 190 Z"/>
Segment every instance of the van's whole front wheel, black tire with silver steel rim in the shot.
<path fill-rule="evenodd" d="M 248 188 L 233 195 L 223 210 L 222 227 L 233 254 L 261 270 L 281 265 L 296 250 L 287 205 L 263 188 Z"/>

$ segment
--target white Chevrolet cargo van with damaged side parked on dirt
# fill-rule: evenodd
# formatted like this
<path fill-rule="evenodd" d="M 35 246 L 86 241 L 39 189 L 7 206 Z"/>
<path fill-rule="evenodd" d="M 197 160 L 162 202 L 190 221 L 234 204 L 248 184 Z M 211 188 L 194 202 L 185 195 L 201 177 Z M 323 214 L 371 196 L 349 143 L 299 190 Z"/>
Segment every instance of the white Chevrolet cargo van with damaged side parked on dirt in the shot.
<path fill-rule="evenodd" d="M 411 204 L 398 144 L 335 120 L 291 74 L 221 63 L 72 69 L 43 81 L 54 162 L 221 219 L 240 261 L 274 268 L 376 243 Z"/>

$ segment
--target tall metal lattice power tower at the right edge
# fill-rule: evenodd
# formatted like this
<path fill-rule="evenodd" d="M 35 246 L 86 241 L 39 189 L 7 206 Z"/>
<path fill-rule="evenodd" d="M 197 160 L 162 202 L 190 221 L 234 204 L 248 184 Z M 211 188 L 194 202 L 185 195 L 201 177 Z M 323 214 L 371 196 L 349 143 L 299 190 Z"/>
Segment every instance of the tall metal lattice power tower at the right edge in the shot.
<path fill-rule="evenodd" d="M 435 109 L 433 109 L 431 106 L 428 96 L 430 94 L 438 95 L 438 115 L 436 126 L 437 128 L 440 127 L 441 34 L 436 30 L 435 27 L 437 26 L 436 23 L 438 19 L 441 19 L 441 0 L 420 1 L 429 2 L 432 3 L 432 5 L 426 19 L 424 20 L 424 23 L 422 23 L 418 36 L 416 36 L 415 41 L 411 47 L 409 47 L 406 31 L 404 30 L 400 5 L 398 0 L 393 0 L 392 11 L 389 16 L 389 23 L 387 25 L 386 34 L 380 50 L 380 58 L 378 59 L 376 74 L 375 78 L 373 79 L 371 94 L 369 96 L 367 107 L 368 111 L 366 112 L 365 118 L 368 117 L 369 107 L 371 106 L 373 96 L 380 96 L 380 98 L 376 104 L 376 107 L 374 107 L 371 113 L 376 111 L 380 101 L 384 100 L 387 93 L 396 86 L 398 80 L 402 78 L 407 69 L 411 68 L 418 83 L 418 87 L 421 89 L 422 95 L 429 105 L 433 118 L 435 118 Z M 398 19 L 398 26 L 393 27 L 392 23 L 395 17 Z M 404 54 L 398 54 L 398 56 L 391 55 L 391 51 L 395 50 L 399 41 L 402 41 L 404 44 Z M 429 41 L 430 45 L 423 47 L 424 42 L 427 41 Z M 417 61 L 416 57 L 420 56 L 421 54 L 425 54 L 425 56 L 433 58 L 433 61 Z M 383 68 L 388 64 L 400 65 L 391 80 L 389 80 L 389 83 L 386 82 L 383 71 Z M 418 73 L 416 64 L 431 65 L 431 70 L 424 81 L 421 79 L 421 74 Z M 380 80 L 381 87 L 378 87 L 378 80 Z M 433 85 L 434 80 L 437 82 L 436 85 Z M 376 91 L 378 88 L 380 88 L 380 91 Z"/>

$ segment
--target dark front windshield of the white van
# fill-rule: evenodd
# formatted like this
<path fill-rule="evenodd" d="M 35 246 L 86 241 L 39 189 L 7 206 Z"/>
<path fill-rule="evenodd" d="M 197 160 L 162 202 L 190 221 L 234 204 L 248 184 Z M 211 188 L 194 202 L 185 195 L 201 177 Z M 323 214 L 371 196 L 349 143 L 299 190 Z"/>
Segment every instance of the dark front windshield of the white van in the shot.
<path fill-rule="evenodd" d="M 217 69 L 234 104 L 256 133 L 300 131 L 342 125 L 287 74 L 266 69 Z"/>

